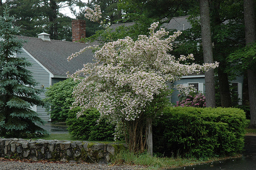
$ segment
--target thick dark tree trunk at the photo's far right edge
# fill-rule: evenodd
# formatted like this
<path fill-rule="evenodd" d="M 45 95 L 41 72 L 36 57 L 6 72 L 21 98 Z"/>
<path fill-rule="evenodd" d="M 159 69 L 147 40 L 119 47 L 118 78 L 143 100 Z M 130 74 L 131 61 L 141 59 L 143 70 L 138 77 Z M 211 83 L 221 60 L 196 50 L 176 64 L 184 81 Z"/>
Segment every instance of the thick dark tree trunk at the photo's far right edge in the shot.
<path fill-rule="evenodd" d="M 253 0 L 244 0 L 244 17 L 245 17 L 245 41 L 246 45 L 255 43 L 256 26 L 255 26 L 255 6 Z M 248 68 L 248 91 L 250 102 L 251 127 L 256 127 L 256 69 Z"/>

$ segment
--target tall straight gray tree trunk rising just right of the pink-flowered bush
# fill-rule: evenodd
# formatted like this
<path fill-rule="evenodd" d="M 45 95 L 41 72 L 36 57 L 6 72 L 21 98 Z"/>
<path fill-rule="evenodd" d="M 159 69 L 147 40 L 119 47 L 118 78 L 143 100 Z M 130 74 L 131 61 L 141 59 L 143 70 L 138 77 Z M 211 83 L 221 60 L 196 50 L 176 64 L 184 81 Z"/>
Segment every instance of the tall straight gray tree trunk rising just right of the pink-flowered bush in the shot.
<path fill-rule="evenodd" d="M 211 26 L 210 26 L 210 9 L 208 0 L 200 0 L 200 21 L 203 45 L 203 62 L 213 63 Z M 214 70 L 210 69 L 205 72 L 205 101 L 206 107 L 215 107 L 215 82 Z"/>

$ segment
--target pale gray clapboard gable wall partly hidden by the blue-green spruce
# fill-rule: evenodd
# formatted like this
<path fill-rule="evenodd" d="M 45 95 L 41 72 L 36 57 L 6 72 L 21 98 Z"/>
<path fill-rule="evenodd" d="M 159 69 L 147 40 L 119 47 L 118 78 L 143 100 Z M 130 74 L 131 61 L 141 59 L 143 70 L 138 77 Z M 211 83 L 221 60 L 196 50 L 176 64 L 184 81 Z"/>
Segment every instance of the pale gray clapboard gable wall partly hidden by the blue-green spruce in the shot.
<path fill-rule="evenodd" d="M 50 85 L 50 74 L 23 50 L 21 50 L 21 53 L 17 53 L 17 57 L 24 57 L 32 64 L 32 67 L 27 67 L 26 69 L 32 72 L 32 76 L 38 83 L 36 88 L 43 90 L 43 92 L 39 96 L 41 97 L 41 99 L 44 99 L 46 88 Z M 37 112 L 38 116 L 41 119 L 49 121 L 49 115 L 46 113 L 45 108 L 37 107 Z"/>

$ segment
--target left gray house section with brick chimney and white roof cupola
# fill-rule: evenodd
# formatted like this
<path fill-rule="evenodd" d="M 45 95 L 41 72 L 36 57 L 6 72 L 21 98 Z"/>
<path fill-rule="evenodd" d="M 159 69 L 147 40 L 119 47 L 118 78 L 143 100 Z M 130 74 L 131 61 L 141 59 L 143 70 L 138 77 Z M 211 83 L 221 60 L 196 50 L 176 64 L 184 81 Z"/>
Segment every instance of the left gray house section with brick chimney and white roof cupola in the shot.
<path fill-rule="evenodd" d="M 80 21 L 82 21 L 82 23 L 80 23 Z M 75 30 L 73 31 L 75 34 L 73 35 L 73 41 L 85 37 L 85 23 L 83 26 L 83 20 L 75 20 L 72 24 L 74 27 L 73 30 Z M 83 29 L 81 29 L 81 27 L 83 27 Z M 82 31 L 79 32 L 78 30 Z M 45 98 L 47 87 L 67 79 L 67 72 L 72 74 L 76 70 L 83 68 L 84 63 L 93 62 L 93 52 L 90 50 L 83 52 L 69 62 L 67 60 L 69 55 L 79 52 L 80 49 L 89 44 L 51 40 L 47 33 L 40 33 L 36 38 L 17 37 L 25 40 L 26 43 L 23 44 L 20 52 L 15 54 L 15 57 L 24 57 L 32 63 L 32 67 L 28 67 L 27 70 L 32 72 L 34 79 L 38 82 L 36 88 L 43 90 L 40 95 L 42 99 Z M 50 117 L 45 111 L 45 108 L 37 106 L 34 107 L 33 110 L 37 111 L 41 119 L 50 121 Z"/>

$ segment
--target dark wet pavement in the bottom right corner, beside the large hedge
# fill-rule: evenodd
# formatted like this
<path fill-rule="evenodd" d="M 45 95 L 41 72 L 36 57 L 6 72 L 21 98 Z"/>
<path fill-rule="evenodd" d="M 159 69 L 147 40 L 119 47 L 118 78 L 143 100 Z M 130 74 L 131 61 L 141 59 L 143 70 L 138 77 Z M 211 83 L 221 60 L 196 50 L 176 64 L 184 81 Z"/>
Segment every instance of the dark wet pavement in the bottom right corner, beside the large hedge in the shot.
<path fill-rule="evenodd" d="M 245 151 L 241 158 L 226 159 L 202 165 L 185 166 L 170 170 L 256 170 L 256 137 L 245 136 Z"/>

